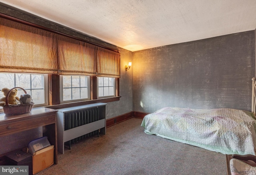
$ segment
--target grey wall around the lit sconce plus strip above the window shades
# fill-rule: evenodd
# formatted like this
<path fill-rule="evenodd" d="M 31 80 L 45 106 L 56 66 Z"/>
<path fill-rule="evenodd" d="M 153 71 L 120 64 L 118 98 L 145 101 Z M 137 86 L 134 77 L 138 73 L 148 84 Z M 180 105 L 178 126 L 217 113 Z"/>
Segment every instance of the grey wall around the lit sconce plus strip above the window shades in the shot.
<path fill-rule="evenodd" d="M 19 10 L 14 7 L 10 7 L 6 4 L 0 3 L 0 13 L 6 14 L 8 16 L 13 16 L 15 18 L 25 20 L 28 22 L 32 22 L 34 24 L 38 24 L 40 26 L 44 26 L 46 28 L 50 28 L 52 30 L 56 30 L 58 32 L 62 32 L 71 36 L 75 36 L 78 38 L 82 38 L 86 41 L 93 42 L 95 44 L 100 44 L 102 46 L 106 46 L 109 48 L 113 48 L 115 50 L 119 50 L 121 54 L 121 78 L 120 78 L 120 101 L 114 101 L 109 102 L 106 105 L 106 119 L 116 117 L 118 115 L 122 115 L 124 113 L 128 113 L 133 111 L 133 100 L 132 100 L 132 68 L 130 71 L 126 72 L 124 70 L 124 66 L 128 64 L 128 62 L 132 61 L 132 52 L 119 48 L 117 46 L 114 46 L 112 44 L 103 42 L 101 40 L 98 40 L 97 38 L 92 38 L 90 36 L 87 36 L 85 34 L 81 34 L 79 32 L 76 32 L 70 28 L 61 26 L 59 24 L 56 24 L 54 22 L 39 18 L 37 16 L 34 16 L 33 14 L 29 14 L 27 12 L 24 12 L 22 10 Z"/>

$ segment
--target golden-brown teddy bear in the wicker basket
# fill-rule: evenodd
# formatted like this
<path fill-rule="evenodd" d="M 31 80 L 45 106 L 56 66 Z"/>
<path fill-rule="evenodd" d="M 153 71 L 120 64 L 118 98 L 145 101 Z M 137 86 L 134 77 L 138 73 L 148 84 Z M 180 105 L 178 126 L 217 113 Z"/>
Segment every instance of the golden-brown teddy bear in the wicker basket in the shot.
<path fill-rule="evenodd" d="M 6 95 L 9 90 L 10 89 L 8 89 L 7 87 L 4 87 L 1 89 L 1 91 L 4 93 L 4 97 L 0 98 L 0 106 L 5 105 Z M 12 91 L 10 92 L 9 97 L 8 97 L 9 104 L 12 104 L 12 105 L 18 104 L 17 101 L 19 101 L 19 97 L 16 96 L 17 93 L 18 93 L 18 89 L 12 89 Z"/>

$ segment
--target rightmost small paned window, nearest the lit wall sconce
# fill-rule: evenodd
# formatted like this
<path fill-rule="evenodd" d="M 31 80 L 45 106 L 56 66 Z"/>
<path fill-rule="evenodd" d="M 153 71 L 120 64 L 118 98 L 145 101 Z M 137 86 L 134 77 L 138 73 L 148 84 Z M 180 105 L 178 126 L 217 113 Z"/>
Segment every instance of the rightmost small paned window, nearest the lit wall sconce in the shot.
<path fill-rule="evenodd" d="M 113 97 L 116 95 L 115 78 L 98 77 L 98 97 Z"/>

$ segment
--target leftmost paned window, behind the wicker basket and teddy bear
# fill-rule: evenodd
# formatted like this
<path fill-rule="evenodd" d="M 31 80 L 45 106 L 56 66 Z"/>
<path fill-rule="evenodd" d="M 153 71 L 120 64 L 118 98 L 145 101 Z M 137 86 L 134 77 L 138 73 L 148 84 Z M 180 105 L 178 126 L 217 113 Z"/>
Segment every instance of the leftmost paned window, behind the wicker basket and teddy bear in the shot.
<path fill-rule="evenodd" d="M 43 106 L 48 104 L 47 80 L 47 74 L 0 73 L 0 88 L 22 87 L 32 96 L 34 106 Z M 18 89 L 17 96 L 22 94 L 24 91 Z M 4 94 L 0 93 L 0 97 L 4 97 Z"/>

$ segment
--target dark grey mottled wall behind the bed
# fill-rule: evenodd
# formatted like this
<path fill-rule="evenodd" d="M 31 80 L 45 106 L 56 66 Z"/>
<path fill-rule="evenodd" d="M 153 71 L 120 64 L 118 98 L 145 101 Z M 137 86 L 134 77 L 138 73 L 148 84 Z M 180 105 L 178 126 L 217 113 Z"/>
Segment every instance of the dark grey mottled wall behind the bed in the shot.
<path fill-rule="evenodd" d="M 134 111 L 251 110 L 254 31 L 133 52 Z"/>

